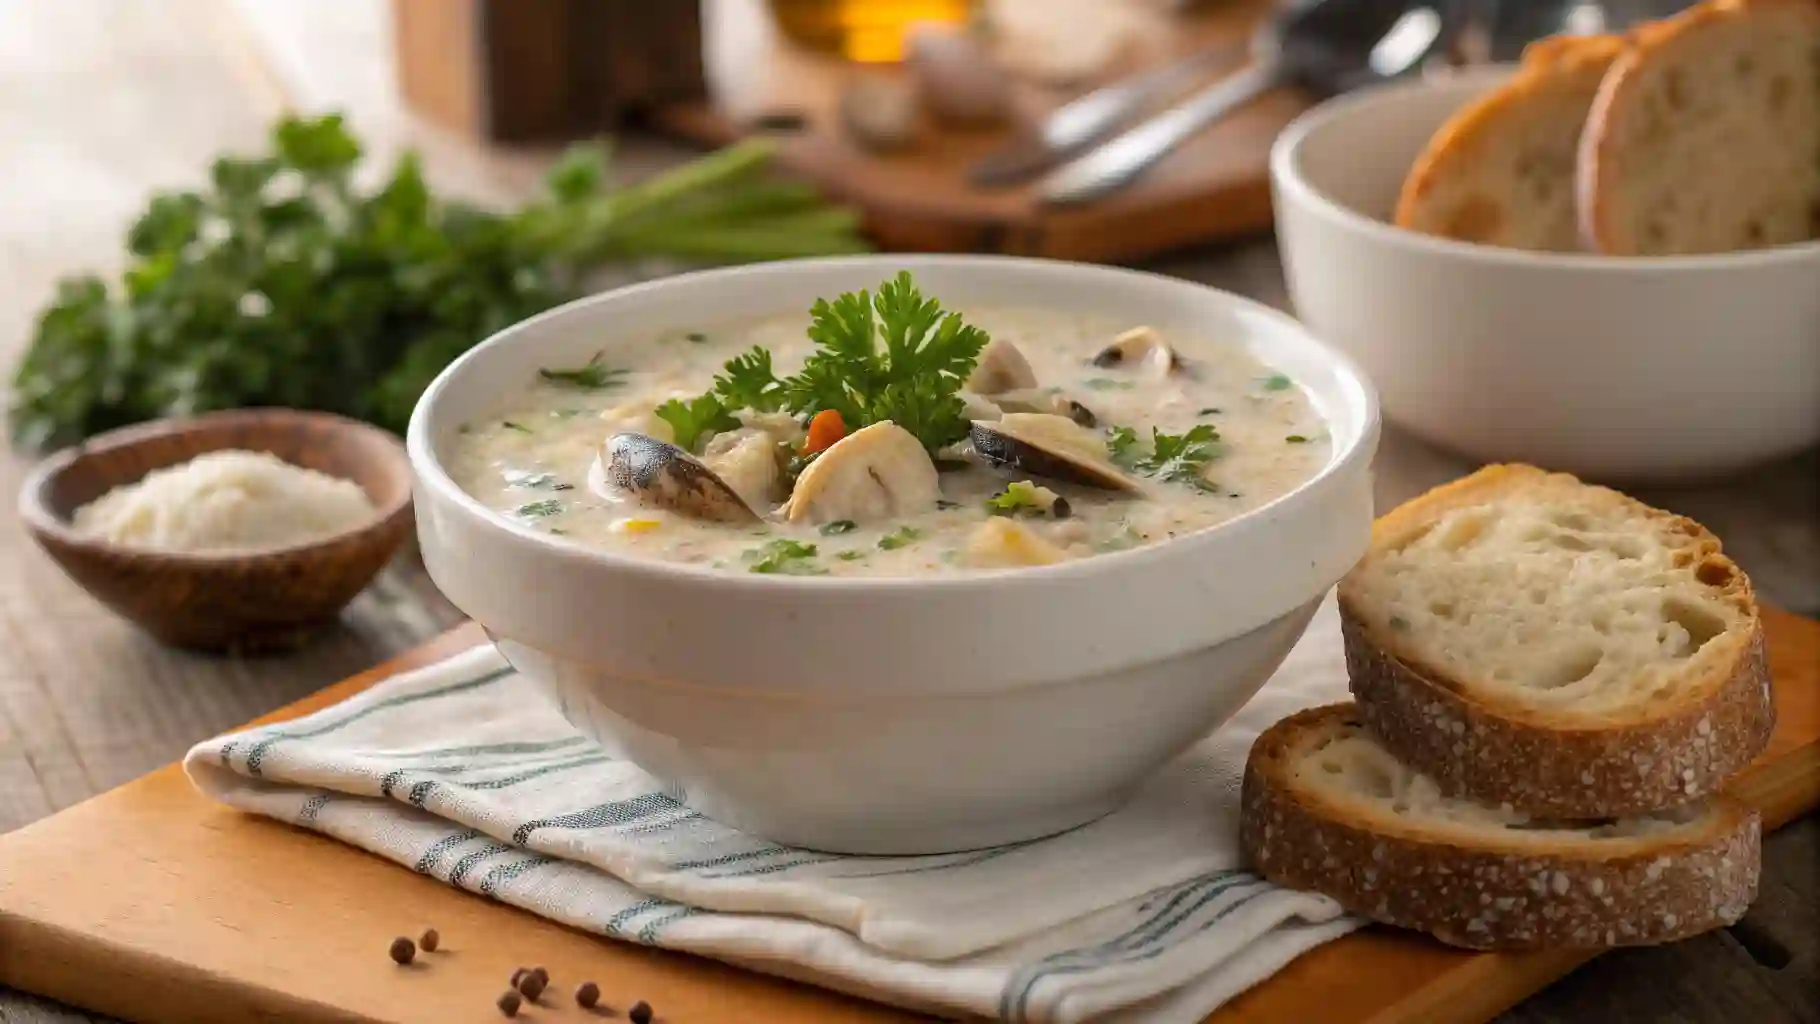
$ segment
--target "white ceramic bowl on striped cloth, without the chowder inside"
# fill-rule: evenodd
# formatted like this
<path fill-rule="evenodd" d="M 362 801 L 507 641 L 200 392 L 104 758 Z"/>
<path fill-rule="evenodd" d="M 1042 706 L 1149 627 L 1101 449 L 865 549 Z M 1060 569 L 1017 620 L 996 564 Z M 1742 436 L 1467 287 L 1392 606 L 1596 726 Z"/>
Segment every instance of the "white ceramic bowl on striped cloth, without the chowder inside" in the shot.
<path fill-rule="evenodd" d="M 1334 437 L 1312 480 L 1218 529 L 943 578 L 733 575 L 586 549 L 444 471 L 464 420 L 619 338 L 808 309 L 908 269 L 950 306 L 1110 313 L 1249 349 Z M 586 735 L 695 809 L 777 842 L 932 853 L 1116 808 L 1276 669 L 1370 527 L 1376 398 L 1294 320 L 1134 271 L 864 256 L 708 271 L 581 300 L 479 346 L 411 418 L 424 564 Z"/>

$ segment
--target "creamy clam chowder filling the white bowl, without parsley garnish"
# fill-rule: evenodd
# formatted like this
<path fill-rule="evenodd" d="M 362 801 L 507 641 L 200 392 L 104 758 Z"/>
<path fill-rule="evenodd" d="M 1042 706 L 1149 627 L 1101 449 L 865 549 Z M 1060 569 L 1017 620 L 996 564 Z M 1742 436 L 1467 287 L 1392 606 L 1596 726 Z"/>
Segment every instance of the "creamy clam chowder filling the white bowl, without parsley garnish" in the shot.
<path fill-rule="evenodd" d="M 764 349 L 788 384 L 819 342 L 803 315 L 703 322 L 546 367 L 460 427 L 451 473 L 500 515 L 592 547 L 730 573 L 923 577 L 1207 529 L 1329 458 L 1301 387 L 1232 346 L 1050 309 L 959 313 L 990 340 L 945 386 L 919 376 L 932 400 L 959 398 L 934 418 L 946 433 L 914 404 L 906 429 L 715 398 L 728 360 Z"/>

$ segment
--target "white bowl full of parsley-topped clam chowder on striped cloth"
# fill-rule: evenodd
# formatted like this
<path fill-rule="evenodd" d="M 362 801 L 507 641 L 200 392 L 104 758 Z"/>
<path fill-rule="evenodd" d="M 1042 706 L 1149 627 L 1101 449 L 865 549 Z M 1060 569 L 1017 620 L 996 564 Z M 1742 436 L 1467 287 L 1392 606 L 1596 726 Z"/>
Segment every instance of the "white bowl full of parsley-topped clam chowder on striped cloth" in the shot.
<path fill-rule="evenodd" d="M 588 737 L 779 842 L 1072 828 L 1256 693 L 1363 553 L 1376 402 L 1294 320 L 1076 264 L 706 271 L 479 346 L 424 560 Z"/>

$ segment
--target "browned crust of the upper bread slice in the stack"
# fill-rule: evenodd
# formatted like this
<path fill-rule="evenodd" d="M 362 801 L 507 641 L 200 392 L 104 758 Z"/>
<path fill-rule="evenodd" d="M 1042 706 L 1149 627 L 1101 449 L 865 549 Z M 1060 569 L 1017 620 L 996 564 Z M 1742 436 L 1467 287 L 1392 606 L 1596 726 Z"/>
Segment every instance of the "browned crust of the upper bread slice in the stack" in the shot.
<path fill-rule="evenodd" d="M 1718 648 L 1707 671 L 1674 700 L 1622 715 L 1536 708 L 1423 664 L 1398 637 L 1369 624 L 1341 580 L 1341 635 L 1360 715 L 1385 748 L 1443 791 L 1531 815 L 1625 817 L 1714 793 L 1769 744 L 1776 708 L 1749 578 L 1698 522 L 1565 473 L 1489 466 L 1380 518 L 1372 549 L 1407 542 L 1452 507 L 1567 486 L 1583 487 L 1589 500 L 1622 502 L 1627 515 L 1693 540 L 1687 557 L 1742 622 L 1709 640 Z"/>

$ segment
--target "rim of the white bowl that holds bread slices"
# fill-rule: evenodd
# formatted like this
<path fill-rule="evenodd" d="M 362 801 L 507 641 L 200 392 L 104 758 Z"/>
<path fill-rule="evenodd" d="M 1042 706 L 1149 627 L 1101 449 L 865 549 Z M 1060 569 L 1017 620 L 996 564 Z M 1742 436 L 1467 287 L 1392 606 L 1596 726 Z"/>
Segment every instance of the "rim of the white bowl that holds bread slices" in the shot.
<path fill-rule="evenodd" d="M 1307 206 L 1314 213 L 1327 216 L 1329 220 L 1338 220 L 1345 227 L 1370 235 L 1372 238 L 1385 242 L 1389 246 L 1401 246 L 1407 249 L 1423 249 L 1429 253 L 1445 253 L 1451 256 L 1460 256 L 1465 260 L 1481 260 L 1487 264 L 1507 264 L 1520 267 L 1556 267 L 1556 269 L 1576 269 L 1592 273 L 1707 273 L 1707 271 L 1734 271 L 1747 269 L 1764 264 L 1782 264 L 1791 260 L 1804 260 L 1820 256 L 1820 240 L 1813 242 L 1789 242 L 1784 246 L 1771 246 L 1767 249 L 1742 249 L 1736 253 L 1702 253 L 1702 255 L 1674 255 L 1674 256 L 1611 256 L 1602 253 L 1536 253 L 1529 249 L 1511 249 L 1507 246 L 1485 246 L 1480 242 L 1458 242 L 1454 238 L 1438 238 L 1434 235 L 1423 235 L 1420 231 L 1410 231 L 1407 227 L 1398 227 L 1387 220 L 1369 216 L 1345 206 L 1325 191 L 1312 186 L 1301 173 L 1301 147 L 1318 131 L 1329 127 L 1334 122 L 1354 116 L 1367 109 L 1389 107 L 1409 98 L 1429 93 L 1436 89 L 1456 91 L 1463 96 L 1471 96 L 1498 82 L 1505 80 L 1516 69 L 1514 64 L 1500 64 L 1492 67 L 1472 67 L 1456 73 L 1445 73 L 1427 78 L 1410 78 L 1401 82 L 1387 82 L 1383 85 L 1370 85 L 1365 89 L 1356 89 L 1332 100 L 1316 104 L 1309 111 L 1303 111 L 1296 120 L 1276 136 L 1270 146 L 1270 178 L 1276 186 L 1289 193 L 1296 202 Z"/>

